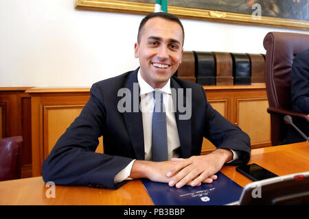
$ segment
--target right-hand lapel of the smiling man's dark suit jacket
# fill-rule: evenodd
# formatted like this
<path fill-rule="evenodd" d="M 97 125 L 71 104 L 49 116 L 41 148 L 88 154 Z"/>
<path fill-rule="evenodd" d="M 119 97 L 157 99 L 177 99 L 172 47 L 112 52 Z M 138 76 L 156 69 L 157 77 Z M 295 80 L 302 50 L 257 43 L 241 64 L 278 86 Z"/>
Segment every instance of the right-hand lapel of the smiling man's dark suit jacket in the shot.
<path fill-rule="evenodd" d="M 181 144 L 181 155 L 183 158 L 187 158 L 191 156 L 191 148 L 192 148 L 192 134 L 191 134 L 191 118 L 187 120 L 182 120 L 179 119 L 179 116 L 181 115 L 181 112 L 179 112 L 179 107 L 178 107 L 178 100 L 179 100 L 179 89 L 181 86 L 171 77 L 170 79 L 170 86 L 171 88 L 174 88 L 176 91 L 176 99 L 174 99 L 173 96 L 173 103 L 174 106 L 176 106 L 176 112 L 175 112 L 175 118 L 176 118 L 176 124 L 177 124 L 177 129 L 178 129 L 178 134 L 179 134 L 179 141 Z M 185 98 L 185 89 L 183 89 L 183 104 L 184 106 L 186 104 L 186 98 Z M 182 96 L 180 96 L 182 98 Z"/>

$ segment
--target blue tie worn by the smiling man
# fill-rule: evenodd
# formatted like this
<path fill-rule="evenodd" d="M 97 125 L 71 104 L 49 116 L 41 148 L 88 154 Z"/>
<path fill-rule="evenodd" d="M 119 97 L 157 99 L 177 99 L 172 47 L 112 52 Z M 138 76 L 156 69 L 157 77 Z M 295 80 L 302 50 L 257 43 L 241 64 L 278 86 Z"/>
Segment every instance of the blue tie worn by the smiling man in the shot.
<path fill-rule="evenodd" d="M 152 161 L 168 160 L 168 132 L 166 131 L 166 114 L 163 103 L 163 93 L 152 92 L 155 107 L 152 113 Z"/>

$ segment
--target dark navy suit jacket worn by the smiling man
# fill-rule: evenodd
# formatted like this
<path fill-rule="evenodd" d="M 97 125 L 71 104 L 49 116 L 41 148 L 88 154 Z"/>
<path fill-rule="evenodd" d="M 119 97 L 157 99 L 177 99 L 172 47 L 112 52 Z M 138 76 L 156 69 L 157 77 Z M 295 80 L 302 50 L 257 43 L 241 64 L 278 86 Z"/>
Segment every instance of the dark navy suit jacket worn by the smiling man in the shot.
<path fill-rule="evenodd" d="M 141 112 L 117 110 L 117 103 L 123 98 L 117 92 L 128 88 L 133 93 L 137 72 L 138 68 L 93 84 L 80 116 L 43 163 L 44 181 L 112 189 L 124 184 L 115 184 L 114 177 L 133 159 L 144 159 L 144 132 Z M 170 85 L 175 89 L 192 88 L 191 118 L 179 120 L 180 112 L 175 112 L 181 157 L 200 155 L 205 136 L 218 148 L 240 151 L 240 162 L 247 164 L 251 152 L 249 136 L 209 105 L 203 87 L 176 77 L 171 77 Z M 100 136 L 104 136 L 104 154 L 94 153 Z"/>

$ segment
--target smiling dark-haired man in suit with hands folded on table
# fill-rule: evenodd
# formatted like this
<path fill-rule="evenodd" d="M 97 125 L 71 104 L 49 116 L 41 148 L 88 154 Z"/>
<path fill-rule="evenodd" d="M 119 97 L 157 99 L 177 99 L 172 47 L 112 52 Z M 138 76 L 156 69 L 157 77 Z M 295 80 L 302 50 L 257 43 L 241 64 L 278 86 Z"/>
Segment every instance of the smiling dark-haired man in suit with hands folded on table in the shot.
<path fill-rule="evenodd" d="M 140 67 L 93 84 L 80 116 L 43 163 L 44 181 L 115 189 L 148 178 L 181 188 L 211 183 L 226 163 L 247 164 L 249 136 L 209 105 L 202 86 L 172 77 L 183 41 L 183 25 L 172 14 L 152 13 L 141 21 L 135 43 Z M 154 118 L 145 110 L 158 90 L 166 108 L 165 162 L 154 159 L 161 137 L 153 137 Z M 94 153 L 100 136 L 104 154 Z M 217 146 L 209 155 L 201 155 L 203 136 Z"/>

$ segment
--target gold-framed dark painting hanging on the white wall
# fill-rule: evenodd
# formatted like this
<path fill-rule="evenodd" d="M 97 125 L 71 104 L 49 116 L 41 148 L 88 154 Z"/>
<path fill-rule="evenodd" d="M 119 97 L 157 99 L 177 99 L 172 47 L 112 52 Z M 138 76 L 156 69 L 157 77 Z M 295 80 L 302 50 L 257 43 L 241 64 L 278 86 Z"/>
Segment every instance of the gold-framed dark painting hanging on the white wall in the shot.
<path fill-rule="evenodd" d="M 80 10 L 149 14 L 155 0 L 76 0 Z M 180 18 L 309 30 L 309 0 L 168 0 Z"/>

